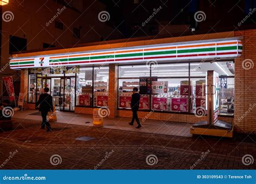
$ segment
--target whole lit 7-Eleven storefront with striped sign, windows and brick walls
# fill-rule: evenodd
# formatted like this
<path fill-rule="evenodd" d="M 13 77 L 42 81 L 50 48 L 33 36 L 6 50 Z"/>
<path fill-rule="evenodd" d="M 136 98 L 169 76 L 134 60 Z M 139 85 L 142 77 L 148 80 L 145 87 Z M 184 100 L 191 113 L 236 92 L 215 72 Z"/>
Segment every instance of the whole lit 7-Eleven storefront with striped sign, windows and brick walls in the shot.
<path fill-rule="evenodd" d="M 237 132 L 255 133 L 255 110 L 243 116 L 256 103 L 249 95 L 254 101 L 246 104 L 250 90 L 241 91 L 246 85 L 241 81 L 253 75 L 245 73 L 254 69 L 242 67 L 246 37 L 245 31 L 223 32 L 23 53 L 10 67 L 22 70 L 21 92 L 30 109 L 47 86 L 53 104 L 64 111 L 92 114 L 95 107 L 107 107 L 110 117 L 131 117 L 131 89 L 138 87 L 143 121 L 187 123 L 207 119 L 197 110 L 205 105 L 206 72 L 215 70 L 223 85 L 219 119 L 234 124 Z"/>

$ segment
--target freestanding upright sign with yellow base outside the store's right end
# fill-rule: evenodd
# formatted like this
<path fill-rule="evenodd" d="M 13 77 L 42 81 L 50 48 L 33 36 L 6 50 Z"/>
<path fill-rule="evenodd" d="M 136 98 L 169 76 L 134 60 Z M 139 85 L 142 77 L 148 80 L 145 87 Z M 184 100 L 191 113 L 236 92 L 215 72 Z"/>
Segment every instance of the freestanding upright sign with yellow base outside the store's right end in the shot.
<path fill-rule="evenodd" d="M 191 126 L 193 135 L 208 135 L 233 137 L 233 125 L 220 121 L 219 117 L 219 74 L 213 70 L 207 71 L 206 76 L 206 111 L 207 121 L 199 121 Z"/>

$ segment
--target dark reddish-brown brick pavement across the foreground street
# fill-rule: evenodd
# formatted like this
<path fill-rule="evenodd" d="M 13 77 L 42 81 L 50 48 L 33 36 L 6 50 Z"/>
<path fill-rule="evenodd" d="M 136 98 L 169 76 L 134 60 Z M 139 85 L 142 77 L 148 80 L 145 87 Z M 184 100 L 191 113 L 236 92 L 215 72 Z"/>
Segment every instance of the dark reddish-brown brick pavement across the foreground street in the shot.
<path fill-rule="evenodd" d="M 98 164 L 97 169 L 190 169 L 193 164 L 194 169 L 256 168 L 255 162 L 242 164 L 245 154 L 255 157 L 255 143 L 236 139 L 184 138 L 63 123 L 52 123 L 53 132 L 45 132 L 39 129 L 40 121 L 15 120 L 15 130 L 0 133 L 0 169 L 94 169 Z M 75 140 L 82 136 L 96 139 Z M 54 154 L 61 157 L 59 165 L 50 162 Z M 146 162 L 151 154 L 155 158 L 148 163 L 154 165 Z"/>

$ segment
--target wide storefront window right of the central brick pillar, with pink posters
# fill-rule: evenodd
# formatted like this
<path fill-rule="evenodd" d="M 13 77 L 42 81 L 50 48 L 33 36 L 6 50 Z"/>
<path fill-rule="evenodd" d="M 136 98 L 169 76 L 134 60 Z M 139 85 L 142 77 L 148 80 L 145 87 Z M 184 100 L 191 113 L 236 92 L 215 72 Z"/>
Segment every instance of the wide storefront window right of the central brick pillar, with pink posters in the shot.
<path fill-rule="evenodd" d="M 145 101 L 150 99 L 150 105 L 144 103 L 147 110 L 150 106 L 154 111 L 195 113 L 197 108 L 206 108 L 206 73 L 215 70 L 223 81 L 220 115 L 233 115 L 232 61 L 119 66 L 118 70 L 118 108 L 130 108 L 132 88 L 138 87 L 141 97 L 144 96 Z"/>

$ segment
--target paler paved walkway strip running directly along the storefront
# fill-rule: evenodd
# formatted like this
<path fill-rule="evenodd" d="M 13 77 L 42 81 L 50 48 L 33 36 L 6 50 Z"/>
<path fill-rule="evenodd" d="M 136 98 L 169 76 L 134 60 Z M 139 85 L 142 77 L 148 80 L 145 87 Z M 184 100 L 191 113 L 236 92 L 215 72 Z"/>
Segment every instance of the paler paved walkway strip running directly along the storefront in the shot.
<path fill-rule="evenodd" d="M 30 119 L 30 120 L 41 120 L 40 112 L 37 115 L 31 115 L 38 112 L 38 110 L 24 110 L 16 111 L 13 118 L 20 119 Z M 133 132 L 143 132 L 158 135 L 167 136 L 178 136 L 178 137 L 192 137 L 190 133 L 191 124 L 179 123 L 179 122 L 165 122 L 161 120 L 151 120 L 147 119 L 142 123 L 142 128 L 136 129 L 137 123 L 131 126 L 128 123 L 131 118 L 116 117 L 116 118 L 104 118 L 105 129 L 113 130 L 123 130 L 123 131 L 133 131 Z M 92 115 L 85 114 L 75 114 L 74 112 L 57 112 L 57 122 L 55 123 L 65 123 L 73 125 L 83 125 L 83 126 L 93 126 Z M 53 125 L 54 128 L 54 125 Z"/>

